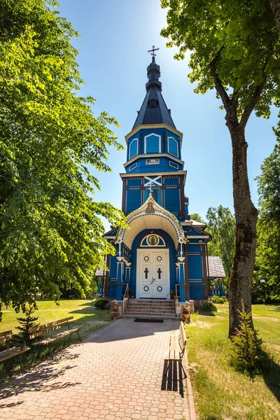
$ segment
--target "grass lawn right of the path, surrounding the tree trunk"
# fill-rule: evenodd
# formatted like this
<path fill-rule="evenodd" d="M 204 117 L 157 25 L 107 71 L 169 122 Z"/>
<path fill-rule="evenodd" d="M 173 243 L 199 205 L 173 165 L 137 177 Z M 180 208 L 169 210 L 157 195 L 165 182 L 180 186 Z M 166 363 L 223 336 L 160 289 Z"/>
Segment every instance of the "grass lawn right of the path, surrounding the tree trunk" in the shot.
<path fill-rule="evenodd" d="M 188 359 L 200 420 L 280 419 L 280 307 L 253 305 L 265 369 L 251 381 L 230 367 L 228 304 L 216 316 L 192 315 L 186 325 Z"/>

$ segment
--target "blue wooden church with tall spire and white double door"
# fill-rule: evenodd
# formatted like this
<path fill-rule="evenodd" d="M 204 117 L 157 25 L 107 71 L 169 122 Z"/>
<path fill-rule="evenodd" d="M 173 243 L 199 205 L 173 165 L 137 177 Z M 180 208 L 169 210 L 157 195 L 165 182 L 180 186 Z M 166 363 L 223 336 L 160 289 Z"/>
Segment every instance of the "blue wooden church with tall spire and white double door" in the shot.
<path fill-rule="evenodd" d="M 181 159 L 183 134 L 176 129 L 162 97 L 160 66 L 147 69 L 146 97 L 132 131 L 125 137 L 127 162 L 123 212 L 129 228 L 104 235 L 116 246 L 106 256 L 105 295 L 122 300 L 127 284 L 135 298 L 180 302 L 207 300 L 206 225 L 190 220 Z"/>

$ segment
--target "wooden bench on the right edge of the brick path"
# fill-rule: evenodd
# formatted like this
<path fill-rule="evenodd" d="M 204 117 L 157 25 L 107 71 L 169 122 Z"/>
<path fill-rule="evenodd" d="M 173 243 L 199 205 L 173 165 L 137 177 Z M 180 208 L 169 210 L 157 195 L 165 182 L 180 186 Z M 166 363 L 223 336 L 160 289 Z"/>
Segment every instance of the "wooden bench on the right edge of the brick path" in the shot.
<path fill-rule="evenodd" d="M 163 374 L 164 377 L 167 376 L 170 362 L 173 360 L 179 360 L 179 363 L 181 364 L 181 367 L 185 374 L 185 377 L 183 377 L 183 379 L 187 377 L 187 374 L 183 368 L 183 363 L 182 363 L 183 355 L 186 350 L 187 338 L 188 337 L 186 337 L 184 323 L 183 321 L 181 321 L 178 337 L 176 337 L 174 331 L 172 331 L 170 335 L 169 349 L 167 350 L 167 353 L 165 355 L 165 360 L 168 360 L 168 363 L 167 363 L 167 368 L 165 370 L 165 373 Z"/>

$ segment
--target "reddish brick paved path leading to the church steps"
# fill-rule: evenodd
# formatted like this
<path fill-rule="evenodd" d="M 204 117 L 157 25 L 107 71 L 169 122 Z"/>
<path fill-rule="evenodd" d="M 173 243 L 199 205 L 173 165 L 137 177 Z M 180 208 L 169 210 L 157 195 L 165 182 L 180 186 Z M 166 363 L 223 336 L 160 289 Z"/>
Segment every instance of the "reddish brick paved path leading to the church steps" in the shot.
<path fill-rule="evenodd" d="M 172 380 L 178 366 L 162 377 L 169 331 L 178 328 L 176 320 L 109 324 L 2 386 L 0 419 L 188 420 L 186 389 Z"/>

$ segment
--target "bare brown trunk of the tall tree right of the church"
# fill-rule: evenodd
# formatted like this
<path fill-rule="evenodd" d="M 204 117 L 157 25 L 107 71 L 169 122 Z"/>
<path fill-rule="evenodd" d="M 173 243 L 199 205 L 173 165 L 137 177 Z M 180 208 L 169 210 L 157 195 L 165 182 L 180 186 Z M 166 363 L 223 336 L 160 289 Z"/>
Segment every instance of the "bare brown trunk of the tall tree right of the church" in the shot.
<path fill-rule="evenodd" d="M 235 206 L 235 255 L 230 276 L 229 304 L 230 330 L 229 336 L 239 326 L 241 299 L 246 312 L 251 311 L 252 277 L 255 262 L 256 223 L 258 210 L 251 201 L 247 170 L 247 147 L 244 128 L 237 122 L 237 116 L 232 120 L 227 116 L 228 128 L 232 139 L 232 182 Z M 253 323 L 252 323 L 253 325 Z"/>

